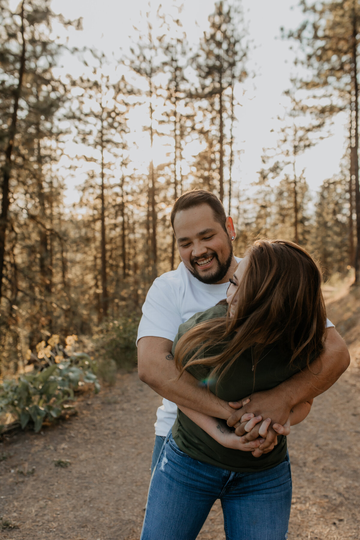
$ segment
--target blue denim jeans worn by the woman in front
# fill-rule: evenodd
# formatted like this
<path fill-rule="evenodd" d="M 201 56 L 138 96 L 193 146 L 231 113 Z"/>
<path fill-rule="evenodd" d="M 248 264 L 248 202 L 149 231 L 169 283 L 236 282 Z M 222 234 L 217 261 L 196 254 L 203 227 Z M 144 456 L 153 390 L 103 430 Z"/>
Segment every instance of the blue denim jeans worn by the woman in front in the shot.
<path fill-rule="evenodd" d="M 140 540 L 193 540 L 220 499 L 227 540 L 284 540 L 291 506 L 289 456 L 259 473 L 194 460 L 170 435 L 152 475 Z"/>

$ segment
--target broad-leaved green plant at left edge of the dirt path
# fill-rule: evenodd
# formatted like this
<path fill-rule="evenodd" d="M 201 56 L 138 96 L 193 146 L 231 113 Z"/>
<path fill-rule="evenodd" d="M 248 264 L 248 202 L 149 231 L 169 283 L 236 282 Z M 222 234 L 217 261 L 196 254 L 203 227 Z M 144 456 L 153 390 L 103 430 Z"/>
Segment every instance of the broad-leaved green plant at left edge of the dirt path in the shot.
<path fill-rule="evenodd" d="M 79 353 L 42 371 L 20 375 L 18 380 L 5 380 L 0 385 L 0 414 L 16 416 L 22 429 L 32 421 L 38 433 L 45 420 L 58 418 L 65 402 L 74 400 L 74 390 L 80 382 L 93 384 L 94 391 L 99 392 L 100 385 L 91 366 L 90 356 Z"/>

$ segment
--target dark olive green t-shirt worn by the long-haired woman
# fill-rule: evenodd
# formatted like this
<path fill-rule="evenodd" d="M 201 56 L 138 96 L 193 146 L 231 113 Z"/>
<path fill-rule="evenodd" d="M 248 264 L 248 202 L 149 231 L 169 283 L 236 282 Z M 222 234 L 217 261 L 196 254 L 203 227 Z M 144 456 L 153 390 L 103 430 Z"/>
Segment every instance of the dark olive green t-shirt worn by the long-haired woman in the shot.
<path fill-rule="evenodd" d="M 226 312 L 226 306 L 218 305 L 204 312 L 195 313 L 191 319 L 180 325 L 173 344 L 173 354 L 176 343 L 187 330 L 200 322 L 226 316 Z M 229 337 L 231 338 L 231 336 Z M 212 354 L 219 352 L 220 347 L 218 350 L 212 348 Z M 257 362 L 254 380 L 252 348 L 246 349 L 221 377 L 217 386 L 217 380 L 212 380 L 211 377 L 209 380 L 212 368 L 197 365 L 187 369 L 198 379 L 199 386 L 206 386 L 209 381 L 210 391 L 220 399 L 237 401 L 253 392 L 274 388 L 306 365 L 305 361 L 298 361 L 296 365 L 289 367 L 290 357 L 289 351 L 280 343 L 267 346 Z M 262 454 L 260 457 L 254 457 L 251 452 L 223 447 L 179 409 L 172 428 L 172 435 L 180 450 L 195 460 L 235 472 L 254 473 L 275 467 L 284 460 L 287 451 L 286 437 L 282 435 L 277 436 L 278 443 L 274 450 L 268 454 Z"/>

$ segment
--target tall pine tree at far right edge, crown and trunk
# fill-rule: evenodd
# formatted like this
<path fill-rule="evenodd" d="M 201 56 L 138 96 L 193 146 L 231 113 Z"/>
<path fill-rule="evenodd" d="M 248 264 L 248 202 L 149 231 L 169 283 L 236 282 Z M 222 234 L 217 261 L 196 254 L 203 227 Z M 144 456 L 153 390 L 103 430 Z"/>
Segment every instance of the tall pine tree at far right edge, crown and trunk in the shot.
<path fill-rule="evenodd" d="M 360 188 L 358 177 L 358 45 L 360 6 L 356 0 L 344 2 L 301 1 L 308 19 L 289 37 L 298 40 L 304 49 L 302 60 L 310 77 L 302 87 L 315 99 L 331 99 L 331 114 L 349 111 L 350 130 L 350 194 L 355 190 L 356 235 L 355 282 L 360 282 Z M 322 90 L 323 93 L 319 92 Z"/>

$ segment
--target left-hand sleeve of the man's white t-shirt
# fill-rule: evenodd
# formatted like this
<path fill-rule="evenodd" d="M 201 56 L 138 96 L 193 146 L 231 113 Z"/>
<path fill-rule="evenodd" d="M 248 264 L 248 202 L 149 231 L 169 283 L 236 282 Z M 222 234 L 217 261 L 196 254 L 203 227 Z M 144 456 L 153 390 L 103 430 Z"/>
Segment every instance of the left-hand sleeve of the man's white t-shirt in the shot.
<path fill-rule="evenodd" d="M 155 279 L 142 306 L 137 344 L 145 336 L 174 341 L 182 323 L 176 300 L 171 285 L 159 278 Z"/>

